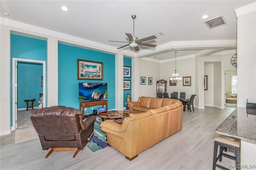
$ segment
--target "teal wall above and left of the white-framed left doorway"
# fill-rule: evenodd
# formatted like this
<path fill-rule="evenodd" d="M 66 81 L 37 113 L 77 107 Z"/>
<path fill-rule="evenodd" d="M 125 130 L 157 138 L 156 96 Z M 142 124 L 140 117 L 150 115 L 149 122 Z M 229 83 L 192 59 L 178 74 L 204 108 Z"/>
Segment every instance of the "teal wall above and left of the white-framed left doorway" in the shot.
<path fill-rule="evenodd" d="M 30 38 L 30 37 L 20 36 L 20 35 L 16 35 L 16 34 L 10 34 L 10 39 L 11 39 L 11 62 L 10 62 L 11 77 L 10 77 L 10 81 L 11 81 L 11 87 L 12 87 L 13 86 L 13 84 L 12 84 L 12 58 L 34 59 L 34 60 L 46 61 L 46 59 L 47 59 L 47 42 L 46 42 L 46 40 L 39 40 L 36 38 Z M 43 73 L 43 71 L 42 71 L 42 73 Z M 40 77 L 40 79 L 41 79 L 42 73 L 40 73 L 36 77 Z M 18 73 L 18 75 L 19 75 L 19 73 Z M 23 81 L 23 80 L 20 80 L 20 81 Z M 33 83 L 31 83 L 31 84 L 33 84 Z M 22 98 L 22 99 L 26 98 L 25 96 L 22 96 L 20 93 L 21 92 L 18 91 L 18 94 L 17 94 L 20 98 Z M 32 93 L 32 91 L 30 93 Z M 38 94 L 35 96 L 35 97 L 37 97 L 36 99 L 38 99 L 39 92 L 36 91 L 35 93 Z M 12 88 L 11 88 L 10 96 L 11 96 L 11 103 L 12 103 Z M 33 97 L 33 96 L 30 96 L 30 97 Z M 25 102 L 23 101 L 22 103 L 25 103 Z M 12 119 L 13 119 L 12 118 L 12 105 L 11 105 L 10 110 L 11 110 L 11 113 L 10 113 L 11 126 L 13 126 L 12 125 Z"/>

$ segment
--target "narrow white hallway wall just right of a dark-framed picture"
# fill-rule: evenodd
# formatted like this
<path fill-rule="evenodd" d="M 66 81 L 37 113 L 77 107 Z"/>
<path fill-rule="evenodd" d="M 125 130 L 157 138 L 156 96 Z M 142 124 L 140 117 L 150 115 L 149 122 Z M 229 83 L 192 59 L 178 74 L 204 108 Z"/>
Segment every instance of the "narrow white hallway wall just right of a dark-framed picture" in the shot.
<path fill-rule="evenodd" d="M 204 65 L 204 75 L 208 76 L 208 90 L 204 90 L 204 105 L 205 106 L 214 106 L 214 64 L 205 64 Z"/>

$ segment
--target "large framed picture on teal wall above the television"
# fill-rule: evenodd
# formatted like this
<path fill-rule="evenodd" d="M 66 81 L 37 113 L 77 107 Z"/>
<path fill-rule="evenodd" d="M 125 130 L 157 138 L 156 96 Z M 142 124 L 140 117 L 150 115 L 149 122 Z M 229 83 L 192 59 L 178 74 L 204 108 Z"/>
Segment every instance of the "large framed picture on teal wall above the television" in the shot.
<path fill-rule="evenodd" d="M 103 80 L 103 63 L 77 59 L 77 79 Z"/>

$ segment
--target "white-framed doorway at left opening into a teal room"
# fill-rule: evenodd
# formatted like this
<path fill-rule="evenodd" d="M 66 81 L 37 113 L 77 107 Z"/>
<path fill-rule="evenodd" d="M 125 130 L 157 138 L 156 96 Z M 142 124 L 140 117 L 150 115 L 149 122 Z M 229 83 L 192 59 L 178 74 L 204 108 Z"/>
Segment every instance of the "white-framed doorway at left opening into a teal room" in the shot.
<path fill-rule="evenodd" d="M 30 79 L 31 77 L 29 77 L 28 74 L 23 73 L 22 71 L 18 71 L 18 68 L 20 66 L 22 66 L 23 68 L 29 67 L 31 69 L 35 67 L 39 68 L 40 70 L 39 73 L 34 76 L 32 75 L 33 78 L 36 77 L 36 79 L 40 79 L 39 88 L 33 87 L 34 86 L 33 79 Z M 28 71 L 28 69 L 26 71 Z M 31 85 L 31 86 L 28 87 L 28 85 Z M 38 86 L 38 83 L 36 86 Z M 36 90 L 32 90 L 32 89 L 36 89 Z M 30 110 L 29 108 L 28 111 L 26 111 L 26 102 L 24 101 L 24 99 L 28 99 L 28 98 L 36 99 L 33 105 L 36 108 L 38 106 L 37 101 L 39 99 L 39 93 L 42 93 L 43 96 L 46 96 L 45 95 L 46 93 L 45 61 L 13 58 L 12 59 L 12 130 L 15 130 L 16 128 L 24 128 L 24 127 L 30 126 L 30 122 L 29 122 L 30 117 L 28 116 L 28 114 L 32 110 Z M 45 97 L 43 97 L 43 103 L 45 103 L 45 101 L 46 101 Z M 31 104 L 32 103 L 30 102 L 29 106 Z M 18 112 L 19 112 L 19 115 L 18 115 Z M 18 123 L 18 121 L 20 122 Z"/>

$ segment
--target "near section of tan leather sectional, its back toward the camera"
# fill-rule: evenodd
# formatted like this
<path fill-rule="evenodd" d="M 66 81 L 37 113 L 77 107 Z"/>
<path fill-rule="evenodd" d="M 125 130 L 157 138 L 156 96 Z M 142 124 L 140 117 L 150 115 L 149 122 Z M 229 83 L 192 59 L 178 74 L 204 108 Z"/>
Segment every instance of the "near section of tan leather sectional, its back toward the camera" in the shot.
<path fill-rule="evenodd" d="M 145 113 L 131 113 L 122 124 L 111 120 L 101 123 L 106 132 L 108 144 L 132 160 L 147 148 L 178 132 L 182 128 L 183 105 L 175 99 L 150 99 L 163 107 L 150 109 Z M 161 102 L 162 101 L 162 102 Z M 150 102 L 150 103 L 151 103 Z M 160 105 L 160 104 L 159 104 Z"/>

